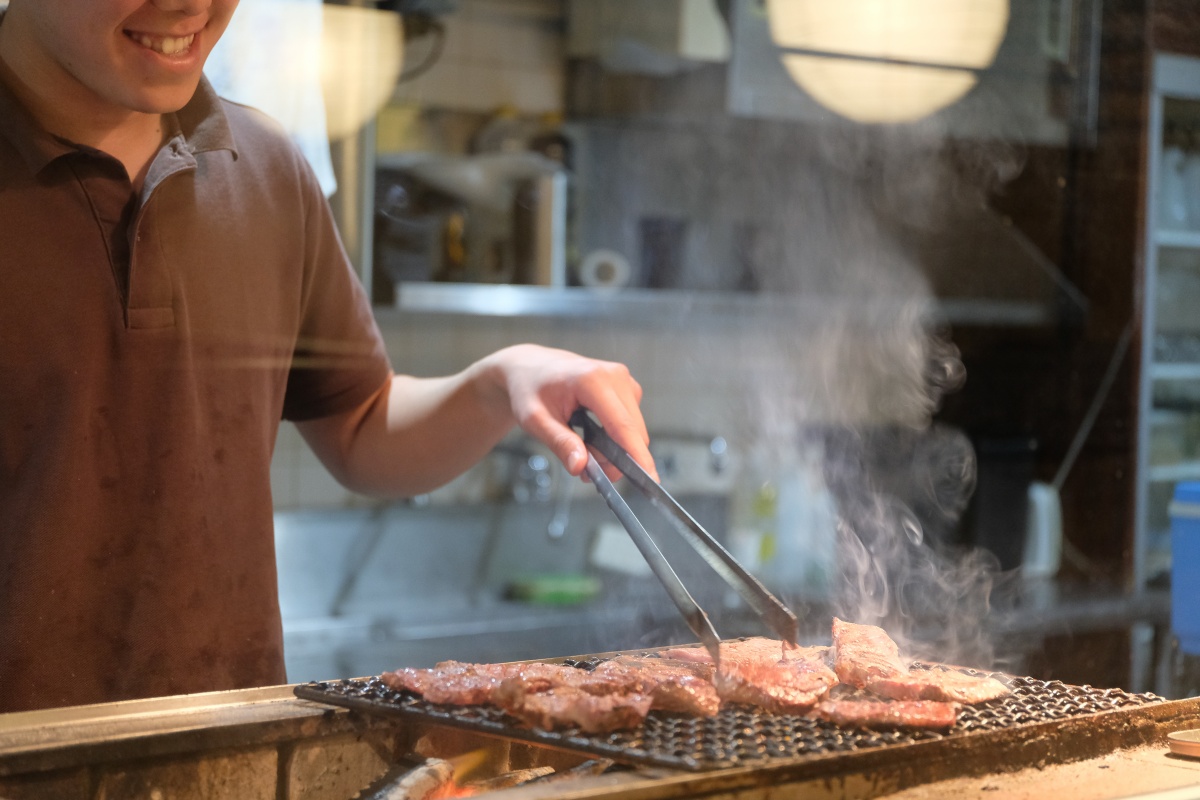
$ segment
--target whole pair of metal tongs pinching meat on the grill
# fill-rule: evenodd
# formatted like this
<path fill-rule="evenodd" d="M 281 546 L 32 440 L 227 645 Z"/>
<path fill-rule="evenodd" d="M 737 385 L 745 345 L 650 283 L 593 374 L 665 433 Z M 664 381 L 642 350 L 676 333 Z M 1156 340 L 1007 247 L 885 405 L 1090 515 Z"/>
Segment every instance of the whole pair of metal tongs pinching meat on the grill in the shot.
<path fill-rule="evenodd" d="M 674 525 L 676 530 L 684 540 L 692 546 L 704 561 L 730 584 L 742 599 L 755 610 L 768 628 L 791 645 L 796 645 L 799 633 L 799 622 L 787 606 L 770 594 L 762 583 L 750 575 L 745 567 L 730 555 L 728 551 L 721 547 L 720 542 L 713 539 L 712 534 L 704 530 L 703 525 L 696 522 L 679 503 L 671 497 L 659 483 L 635 462 L 628 452 L 622 449 L 596 422 L 592 414 L 584 409 L 576 409 L 571 415 L 571 427 L 577 429 L 583 437 L 583 441 L 594 447 L 612 463 L 620 473 L 629 479 L 650 504 L 662 511 Z M 630 539 L 641 551 L 646 563 L 649 564 L 654 576 L 667 590 L 667 595 L 674 602 L 676 608 L 683 614 L 688 627 L 700 638 L 700 642 L 713 656 L 713 663 L 720 667 L 720 640 L 716 628 L 708 619 L 708 614 L 700 607 L 700 603 L 691 596 L 688 588 L 683 585 L 679 576 L 671 567 L 671 563 L 662 555 L 662 551 L 654 542 L 646 528 L 638 521 L 625 499 L 617 492 L 617 488 L 605 475 L 600 464 L 592 453 L 588 453 L 588 463 L 584 467 L 587 476 L 595 483 L 596 491 L 604 497 L 605 503 L 617 515 L 617 519 L 629 531 Z"/>

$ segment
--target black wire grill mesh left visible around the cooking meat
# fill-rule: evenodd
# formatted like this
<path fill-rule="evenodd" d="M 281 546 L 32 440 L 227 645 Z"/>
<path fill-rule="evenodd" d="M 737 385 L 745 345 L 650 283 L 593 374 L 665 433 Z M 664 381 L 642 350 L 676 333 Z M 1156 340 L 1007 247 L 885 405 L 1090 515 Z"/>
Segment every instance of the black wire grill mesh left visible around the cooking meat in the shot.
<path fill-rule="evenodd" d="M 565 663 L 587 668 L 599 663 L 599 660 Z M 1163 702 L 1163 698 L 1154 694 L 1133 694 L 1118 688 L 1072 686 L 1056 680 L 1014 678 L 972 669 L 962 672 L 995 678 L 1008 686 L 1012 693 L 988 703 L 962 706 L 958 722 L 944 733 L 846 728 L 805 716 L 764 714 L 748 706 L 722 706 L 716 716 L 707 718 L 652 711 L 638 729 L 586 734 L 577 730 L 526 728 L 499 709 L 490 706 L 436 705 L 408 692 L 397 692 L 378 678 L 304 684 L 295 687 L 295 693 L 305 699 L 372 714 L 416 716 L 481 733 L 568 747 L 624 763 L 684 770 L 746 766 L 774 759 L 805 759 L 931 739 L 967 736 Z"/>

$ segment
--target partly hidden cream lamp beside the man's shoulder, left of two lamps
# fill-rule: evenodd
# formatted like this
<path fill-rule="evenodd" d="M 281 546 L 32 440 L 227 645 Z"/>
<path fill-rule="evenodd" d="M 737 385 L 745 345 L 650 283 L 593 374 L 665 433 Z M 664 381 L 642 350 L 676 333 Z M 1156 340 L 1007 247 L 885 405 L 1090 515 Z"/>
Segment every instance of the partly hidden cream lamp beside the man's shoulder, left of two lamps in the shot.
<path fill-rule="evenodd" d="M 323 5 L 320 80 L 329 138 L 358 133 L 391 98 L 404 66 L 398 13 Z"/>

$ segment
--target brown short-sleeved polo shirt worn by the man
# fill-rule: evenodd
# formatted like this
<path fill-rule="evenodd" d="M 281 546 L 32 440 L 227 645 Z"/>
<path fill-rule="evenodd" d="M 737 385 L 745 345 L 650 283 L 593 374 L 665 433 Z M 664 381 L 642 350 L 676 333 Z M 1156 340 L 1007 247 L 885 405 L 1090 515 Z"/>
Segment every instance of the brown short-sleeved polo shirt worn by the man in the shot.
<path fill-rule="evenodd" d="M 283 682 L 278 422 L 389 372 L 277 126 L 172 124 L 136 197 L 0 83 L 0 711 Z"/>

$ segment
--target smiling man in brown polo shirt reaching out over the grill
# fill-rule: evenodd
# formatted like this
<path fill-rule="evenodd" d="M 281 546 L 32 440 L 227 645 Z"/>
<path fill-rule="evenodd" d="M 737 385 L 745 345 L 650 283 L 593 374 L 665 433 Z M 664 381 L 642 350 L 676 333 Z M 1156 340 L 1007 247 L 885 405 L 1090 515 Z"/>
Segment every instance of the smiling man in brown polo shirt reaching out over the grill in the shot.
<path fill-rule="evenodd" d="M 0 710 L 286 680 L 281 419 L 380 495 L 514 425 L 578 475 L 578 405 L 653 469 L 620 365 L 516 345 L 392 374 L 307 163 L 203 78 L 235 5 L 0 17 Z"/>

